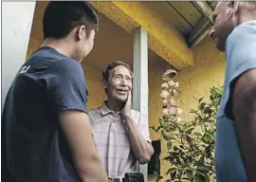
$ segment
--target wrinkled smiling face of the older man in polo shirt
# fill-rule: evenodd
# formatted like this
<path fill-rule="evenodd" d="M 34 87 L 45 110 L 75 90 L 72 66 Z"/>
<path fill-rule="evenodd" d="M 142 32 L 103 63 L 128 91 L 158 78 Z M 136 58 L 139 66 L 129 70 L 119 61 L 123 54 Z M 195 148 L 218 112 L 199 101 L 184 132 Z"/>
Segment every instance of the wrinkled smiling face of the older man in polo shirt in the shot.
<path fill-rule="evenodd" d="M 110 77 L 106 83 L 108 100 L 123 102 L 127 100 L 132 88 L 133 77 L 127 67 L 118 65 L 110 71 Z"/>

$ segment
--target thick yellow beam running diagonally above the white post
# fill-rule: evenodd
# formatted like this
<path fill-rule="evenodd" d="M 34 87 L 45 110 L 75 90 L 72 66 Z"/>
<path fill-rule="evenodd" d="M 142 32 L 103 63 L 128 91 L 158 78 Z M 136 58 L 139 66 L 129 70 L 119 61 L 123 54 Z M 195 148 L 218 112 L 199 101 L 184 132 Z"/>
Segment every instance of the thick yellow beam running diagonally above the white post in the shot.
<path fill-rule="evenodd" d="M 131 35 L 137 27 L 146 29 L 149 35 L 149 48 L 178 70 L 192 66 L 192 49 L 186 44 L 182 34 L 145 2 L 92 1 L 90 3 Z"/>

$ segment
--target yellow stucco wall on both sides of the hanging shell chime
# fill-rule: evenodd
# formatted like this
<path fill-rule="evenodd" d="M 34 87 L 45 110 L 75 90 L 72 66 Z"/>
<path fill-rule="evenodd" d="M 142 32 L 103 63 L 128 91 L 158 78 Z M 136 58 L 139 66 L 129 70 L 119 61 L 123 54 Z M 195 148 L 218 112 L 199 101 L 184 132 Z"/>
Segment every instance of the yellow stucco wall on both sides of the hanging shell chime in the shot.
<path fill-rule="evenodd" d="M 196 107 L 197 101 L 193 99 L 209 98 L 209 90 L 212 85 L 222 85 L 224 81 L 225 55 L 218 52 L 210 39 L 205 39 L 193 49 L 194 66 L 178 73 L 176 81 L 180 83 L 180 107 L 184 110 L 182 118 L 192 119 L 189 113 L 191 108 Z M 149 73 L 149 120 L 150 125 L 157 125 L 161 115 L 160 83 L 161 75 L 168 67 L 152 67 Z M 151 131 L 153 140 L 158 139 L 155 132 Z M 161 158 L 165 156 L 166 147 L 162 143 Z M 161 174 L 163 175 L 170 164 L 161 160 Z M 150 181 L 154 181 L 152 177 Z M 161 181 L 165 181 L 164 177 Z"/>

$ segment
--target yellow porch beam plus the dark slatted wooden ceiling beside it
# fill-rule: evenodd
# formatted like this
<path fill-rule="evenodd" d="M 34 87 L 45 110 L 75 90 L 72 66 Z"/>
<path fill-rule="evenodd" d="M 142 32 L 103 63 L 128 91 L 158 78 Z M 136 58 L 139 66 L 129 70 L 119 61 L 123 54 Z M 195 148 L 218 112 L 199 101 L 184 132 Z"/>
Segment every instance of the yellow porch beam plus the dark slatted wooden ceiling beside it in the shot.
<path fill-rule="evenodd" d="M 129 34 L 139 26 L 149 33 L 149 47 L 178 70 L 192 66 L 192 46 L 209 33 L 214 2 L 91 1 L 95 9 Z"/>

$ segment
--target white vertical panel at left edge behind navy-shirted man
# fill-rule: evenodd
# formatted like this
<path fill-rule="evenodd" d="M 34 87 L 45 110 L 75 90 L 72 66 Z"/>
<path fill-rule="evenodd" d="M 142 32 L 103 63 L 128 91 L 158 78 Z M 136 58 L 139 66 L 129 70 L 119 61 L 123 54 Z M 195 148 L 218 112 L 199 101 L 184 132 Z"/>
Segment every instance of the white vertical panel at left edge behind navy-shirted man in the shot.
<path fill-rule="evenodd" d="M 36 2 L 2 2 L 2 106 L 9 85 L 26 61 L 35 5 Z"/>

